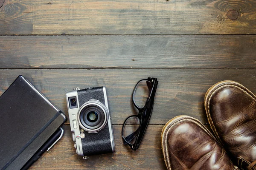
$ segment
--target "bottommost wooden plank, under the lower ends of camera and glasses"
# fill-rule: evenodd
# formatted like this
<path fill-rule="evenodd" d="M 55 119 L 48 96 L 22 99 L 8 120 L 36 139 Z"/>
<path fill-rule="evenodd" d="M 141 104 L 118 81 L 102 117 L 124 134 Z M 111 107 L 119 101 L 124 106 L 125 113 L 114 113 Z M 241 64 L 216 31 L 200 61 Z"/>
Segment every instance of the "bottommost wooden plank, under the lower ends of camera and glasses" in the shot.
<path fill-rule="evenodd" d="M 122 125 L 113 125 L 115 153 L 90 156 L 83 160 L 76 154 L 70 126 L 64 125 L 63 138 L 32 165 L 29 170 L 164 170 L 161 131 L 163 125 L 149 125 L 140 148 L 136 151 L 124 146 L 121 137 Z"/>

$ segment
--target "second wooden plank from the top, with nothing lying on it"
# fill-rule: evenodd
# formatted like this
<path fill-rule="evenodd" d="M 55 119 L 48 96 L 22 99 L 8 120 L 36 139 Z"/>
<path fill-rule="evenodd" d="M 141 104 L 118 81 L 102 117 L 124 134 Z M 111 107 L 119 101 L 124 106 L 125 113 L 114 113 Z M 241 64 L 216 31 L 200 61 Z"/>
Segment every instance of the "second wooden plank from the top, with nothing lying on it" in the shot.
<path fill-rule="evenodd" d="M 256 68 L 256 36 L 0 36 L 0 68 Z"/>

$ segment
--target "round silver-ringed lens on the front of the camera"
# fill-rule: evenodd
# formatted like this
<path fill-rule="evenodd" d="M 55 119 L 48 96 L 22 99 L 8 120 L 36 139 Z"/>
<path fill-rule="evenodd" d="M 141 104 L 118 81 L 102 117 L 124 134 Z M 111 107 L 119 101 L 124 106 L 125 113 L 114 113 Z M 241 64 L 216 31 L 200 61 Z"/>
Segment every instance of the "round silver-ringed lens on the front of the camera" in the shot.
<path fill-rule="evenodd" d="M 77 119 L 81 128 L 89 133 L 97 133 L 108 122 L 108 109 L 98 100 L 92 99 L 81 106 Z"/>

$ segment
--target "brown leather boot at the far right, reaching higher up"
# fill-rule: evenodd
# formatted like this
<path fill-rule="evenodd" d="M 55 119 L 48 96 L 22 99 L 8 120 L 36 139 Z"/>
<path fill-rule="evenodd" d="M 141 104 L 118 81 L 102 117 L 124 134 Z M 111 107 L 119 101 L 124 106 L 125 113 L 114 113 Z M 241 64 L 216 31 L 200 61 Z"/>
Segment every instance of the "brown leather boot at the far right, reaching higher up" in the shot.
<path fill-rule="evenodd" d="M 256 96 L 243 85 L 223 81 L 205 96 L 209 124 L 241 170 L 256 170 Z"/>

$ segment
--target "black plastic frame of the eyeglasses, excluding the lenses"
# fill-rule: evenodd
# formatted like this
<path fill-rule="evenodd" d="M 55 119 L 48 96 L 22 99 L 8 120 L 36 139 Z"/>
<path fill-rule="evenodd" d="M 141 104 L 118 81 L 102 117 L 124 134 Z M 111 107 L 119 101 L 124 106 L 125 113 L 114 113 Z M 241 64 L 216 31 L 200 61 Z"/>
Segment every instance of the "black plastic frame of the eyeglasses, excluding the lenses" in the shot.
<path fill-rule="evenodd" d="M 149 81 L 149 82 L 151 82 L 152 87 L 151 87 L 150 93 L 148 94 L 148 98 L 147 98 L 147 100 L 146 100 L 146 102 L 145 102 L 144 107 L 143 107 L 143 108 L 140 108 L 140 107 L 138 107 L 138 106 L 136 105 L 134 96 L 135 96 L 135 91 L 136 91 L 136 89 L 137 89 L 137 86 L 138 86 L 139 83 L 142 82 L 142 81 L 147 81 L 147 82 Z M 135 87 L 134 87 L 134 90 L 133 90 L 133 93 L 132 93 L 132 102 L 133 102 L 135 108 L 137 108 L 137 110 L 139 111 L 139 113 L 138 113 L 137 115 L 128 116 L 128 117 L 125 119 L 125 122 L 124 122 L 124 124 L 123 124 L 123 126 L 122 126 L 122 139 L 123 139 L 124 145 L 125 145 L 125 144 L 128 144 L 128 145 L 131 147 L 132 150 L 136 150 L 136 149 L 138 149 L 138 148 L 140 147 L 140 143 L 141 143 L 141 141 L 142 141 L 142 139 L 143 139 L 143 136 L 144 136 L 144 134 L 145 134 L 145 131 L 146 131 L 147 127 L 148 127 L 148 122 L 149 122 L 149 120 L 150 120 L 150 118 L 151 118 L 151 114 L 152 114 L 152 111 L 153 111 L 154 96 L 155 96 L 155 94 L 156 94 L 157 85 L 158 85 L 157 78 L 148 77 L 148 79 L 141 79 L 139 82 L 137 82 L 137 84 L 136 84 Z M 147 86 L 148 86 L 148 83 L 147 83 Z M 149 87 L 148 87 L 148 88 L 149 88 Z M 148 112 L 147 112 L 147 111 L 148 111 Z M 145 119 L 144 119 L 143 115 L 146 116 Z M 125 127 L 125 123 L 126 123 L 126 121 L 127 121 L 129 118 L 131 118 L 131 117 L 137 117 L 137 118 L 140 120 L 140 127 L 139 127 L 136 131 L 134 131 L 134 133 L 131 133 L 129 136 L 126 136 L 126 137 L 125 137 L 125 136 L 123 135 L 123 130 L 124 130 L 124 127 Z M 143 119 L 144 119 L 144 121 L 146 121 L 146 122 L 144 122 Z M 134 134 L 136 134 L 136 133 L 138 133 L 138 136 L 137 136 L 136 141 L 134 142 L 134 144 L 130 144 L 129 142 L 130 142 L 132 139 L 134 139 Z M 128 138 L 128 141 L 129 141 L 129 142 L 126 140 L 127 138 Z M 131 139 L 130 139 L 130 138 L 131 138 Z"/>

